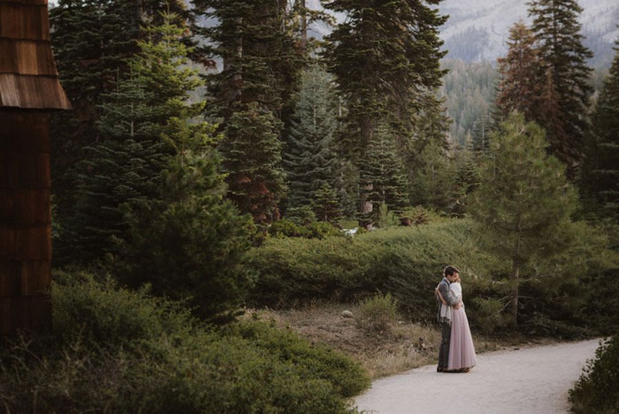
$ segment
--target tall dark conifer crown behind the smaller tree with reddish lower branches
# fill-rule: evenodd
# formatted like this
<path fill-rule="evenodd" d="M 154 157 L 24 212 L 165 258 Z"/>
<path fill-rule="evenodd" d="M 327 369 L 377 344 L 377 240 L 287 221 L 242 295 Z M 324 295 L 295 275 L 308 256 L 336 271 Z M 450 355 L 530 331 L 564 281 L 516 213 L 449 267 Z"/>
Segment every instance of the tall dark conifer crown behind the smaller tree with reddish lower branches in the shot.
<path fill-rule="evenodd" d="M 217 114 L 228 120 L 238 103 L 257 102 L 280 118 L 301 69 L 294 38 L 287 32 L 287 1 L 195 0 L 198 19 L 218 24 L 195 28 L 207 45 L 199 52 L 221 58 L 221 72 L 208 76 Z M 240 110 L 243 110 L 241 108 Z M 281 118 L 280 118 L 281 120 Z"/>

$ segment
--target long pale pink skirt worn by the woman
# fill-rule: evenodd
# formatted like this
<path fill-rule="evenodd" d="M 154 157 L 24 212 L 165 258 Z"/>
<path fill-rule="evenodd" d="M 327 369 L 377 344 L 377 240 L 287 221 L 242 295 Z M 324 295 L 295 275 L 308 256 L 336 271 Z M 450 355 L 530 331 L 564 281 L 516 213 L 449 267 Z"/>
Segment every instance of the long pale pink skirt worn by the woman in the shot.
<path fill-rule="evenodd" d="M 452 369 L 473 368 L 475 364 L 477 364 L 475 346 L 473 345 L 473 338 L 470 336 L 464 306 L 460 309 L 453 309 L 447 369 L 451 371 Z"/>

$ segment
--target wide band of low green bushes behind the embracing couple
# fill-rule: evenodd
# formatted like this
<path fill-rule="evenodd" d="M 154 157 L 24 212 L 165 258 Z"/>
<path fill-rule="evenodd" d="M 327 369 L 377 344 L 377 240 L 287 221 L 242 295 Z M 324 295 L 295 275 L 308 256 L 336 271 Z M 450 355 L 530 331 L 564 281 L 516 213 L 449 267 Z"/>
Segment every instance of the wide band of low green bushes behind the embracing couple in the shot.
<path fill-rule="evenodd" d="M 527 334 L 578 338 L 617 326 L 609 309 L 616 309 L 619 292 L 608 281 L 618 272 L 619 255 L 596 228 L 585 223 L 572 227 L 565 241 L 569 248 L 553 257 L 540 252 L 521 272 L 519 329 Z M 461 270 L 471 327 L 500 333 L 513 328 L 506 307 L 511 265 L 481 250 L 477 237 L 468 219 L 437 219 L 354 237 L 270 239 L 248 256 L 257 273 L 250 303 L 288 307 L 390 292 L 404 316 L 426 322 L 435 319 L 434 288 L 451 263 Z"/>

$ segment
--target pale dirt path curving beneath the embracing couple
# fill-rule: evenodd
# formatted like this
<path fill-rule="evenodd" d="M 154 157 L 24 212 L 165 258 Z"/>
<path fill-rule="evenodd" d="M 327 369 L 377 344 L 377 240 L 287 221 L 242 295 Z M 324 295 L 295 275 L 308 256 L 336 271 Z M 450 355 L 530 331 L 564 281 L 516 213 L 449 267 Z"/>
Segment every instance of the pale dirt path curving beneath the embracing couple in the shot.
<path fill-rule="evenodd" d="M 469 373 L 435 365 L 376 380 L 356 398 L 367 413 L 567 413 L 567 391 L 598 340 L 497 351 L 477 356 Z"/>

